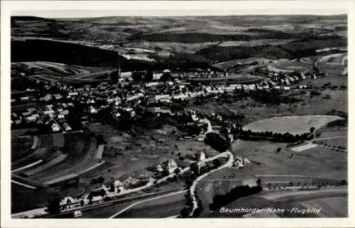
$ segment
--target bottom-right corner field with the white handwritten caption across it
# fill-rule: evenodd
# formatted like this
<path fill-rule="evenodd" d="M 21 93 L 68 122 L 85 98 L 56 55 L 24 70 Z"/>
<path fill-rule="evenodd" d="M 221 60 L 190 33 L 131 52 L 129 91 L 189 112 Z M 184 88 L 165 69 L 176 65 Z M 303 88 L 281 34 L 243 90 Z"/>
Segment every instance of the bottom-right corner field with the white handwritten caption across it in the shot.
<path fill-rule="evenodd" d="M 332 202 L 339 200 L 339 202 L 332 204 Z M 283 212 L 270 212 L 268 208 L 284 209 Z M 320 212 L 302 213 L 297 212 L 293 208 L 299 210 L 310 209 L 314 207 L 320 208 Z M 303 192 L 275 192 L 266 193 L 266 195 L 253 195 L 243 197 L 229 205 L 226 209 L 241 208 L 257 208 L 263 209 L 264 212 L 259 214 L 257 212 L 250 215 L 250 212 L 222 212 L 216 210 L 204 217 L 347 217 L 347 189 L 333 188 L 329 190 L 313 190 Z"/>

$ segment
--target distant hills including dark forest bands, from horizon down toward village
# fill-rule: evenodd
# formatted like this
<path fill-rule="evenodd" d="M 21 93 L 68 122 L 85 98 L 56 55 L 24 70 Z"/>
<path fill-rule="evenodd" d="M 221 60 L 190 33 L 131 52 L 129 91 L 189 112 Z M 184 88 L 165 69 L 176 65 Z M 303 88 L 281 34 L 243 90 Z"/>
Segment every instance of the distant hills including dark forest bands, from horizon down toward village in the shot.
<path fill-rule="evenodd" d="M 117 53 L 124 48 L 136 47 L 162 48 L 168 54 L 165 59 L 159 59 L 157 64 L 160 67 L 211 67 L 212 63 L 242 58 L 312 56 L 317 49 L 346 47 L 346 34 L 347 16 L 344 14 L 102 18 L 12 16 L 11 61 L 43 60 L 88 66 L 119 62 L 123 67 L 131 68 L 137 63 L 129 63 Z M 26 38 L 26 41 L 21 38 Z M 62 42 L 65 40 L 72 43 Z M 269 43 L 270 40 L 282 42 Z M 220 45 L 229 41 L 236 44 Z M 142 43 L 146 46 L 142 47 Z M 114 45 L 114 48 L 102 50 L 101 44 Z M 144 68 L 147 63 L 138 65 Z"/>

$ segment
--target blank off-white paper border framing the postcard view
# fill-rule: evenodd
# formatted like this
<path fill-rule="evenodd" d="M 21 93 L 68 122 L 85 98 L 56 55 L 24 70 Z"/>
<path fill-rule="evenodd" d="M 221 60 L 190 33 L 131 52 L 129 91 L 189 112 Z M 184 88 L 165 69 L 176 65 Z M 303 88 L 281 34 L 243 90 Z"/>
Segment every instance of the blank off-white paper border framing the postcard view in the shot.
<path fill-rule="evenodd" d="M 231 9 L 258 9 L 256 13 L 244 14 L 300 14 L 297 11 L 317 14 L 334 9 L 348 9 L 349 19 L 349 60 L 354 63 L 354 1 L 1 1 L 1 227 L 353 227 L 354 208 L 354 141 L 349 136 L 349 218 L 347 219 L 11 219 L 10 197 L 10 16 L 18 10 L 117 10 L 162 12 L 161 9 L 187 11 L 200 9 L 211 15 L 215 11 Z M 164 12 L 164 10 L 163 10 Z M 319 13 L 320 12 L 320 13 Z M 185 13 L 188 15 L 188 13 Z M 243 13 L 238 13 L 243 14 Z M 326 14 L 326 13 L 324 13 Z M 133 16 L 132 14 L 130 14 Z M 167 16 L 168 16 L 167 15 Z M 123 16 L 123 15 L 122 15 Z M 349 64 L 349 75 L 355 72 Z M 349 117 L 354 116 L 351 102 L 355 97 L 354 78 L 349 76 Z M 354 121 L 349 118 L 349 134 L 354 129 Z M 352 162 L 351 162 L 352 161 Z"/>

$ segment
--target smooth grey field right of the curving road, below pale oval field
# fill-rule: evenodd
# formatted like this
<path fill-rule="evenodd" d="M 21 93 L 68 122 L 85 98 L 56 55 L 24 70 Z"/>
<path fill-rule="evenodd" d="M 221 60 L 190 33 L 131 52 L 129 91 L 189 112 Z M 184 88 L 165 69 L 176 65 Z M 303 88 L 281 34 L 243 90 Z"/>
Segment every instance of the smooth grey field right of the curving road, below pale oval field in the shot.
<path fill-rule="evenodd" d="M 238 139 L 232 145 L 236 156 L 248 158 L 252 163 L 238 171 L 238 176 L 256 174 L 288 174 L 317 176 L 346 180 L 347 154 L 317 146 L 295 152 L 285 147 L 285 143 L 268 141 L 243 141 Z M 281 148 L 280 153 L 276 150 Z M 292 157 L 290 155 L 293 154 Z"/>

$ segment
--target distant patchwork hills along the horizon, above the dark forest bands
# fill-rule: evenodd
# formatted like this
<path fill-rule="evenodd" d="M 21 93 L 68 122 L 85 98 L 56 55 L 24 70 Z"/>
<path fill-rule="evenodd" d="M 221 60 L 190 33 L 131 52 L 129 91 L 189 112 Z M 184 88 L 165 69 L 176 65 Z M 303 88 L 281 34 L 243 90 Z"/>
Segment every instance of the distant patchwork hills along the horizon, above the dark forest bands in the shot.
<path fill-rule="evenodd" d="M 317 26 L 314 26 L 314 24 Z M 47 19 L 11 17 L 11 36 L 71 40 L 203 42 L 261 38 L 307 38 L 346 31 L 339 16 L 187 16 Z M 174 38 L 170 35 L 179 34 Z"/>

